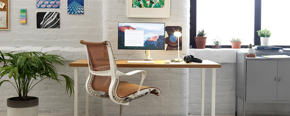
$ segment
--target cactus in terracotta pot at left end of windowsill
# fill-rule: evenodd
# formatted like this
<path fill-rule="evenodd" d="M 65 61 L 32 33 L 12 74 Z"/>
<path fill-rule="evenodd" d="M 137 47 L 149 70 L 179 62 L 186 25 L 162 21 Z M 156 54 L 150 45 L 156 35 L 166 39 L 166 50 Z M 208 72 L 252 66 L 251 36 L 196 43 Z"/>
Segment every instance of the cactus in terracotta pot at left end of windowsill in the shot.
<path fill-rule="evenodd" d="M 205 43 L 206 43 L 206 38 L 207 38 L 207 37 L 204 37 L 205 34 L 206 33 L 204 33 L 203 29 L 197 31 L 197 36 L 194 37 L 197 49 L 205 48 Z"/>

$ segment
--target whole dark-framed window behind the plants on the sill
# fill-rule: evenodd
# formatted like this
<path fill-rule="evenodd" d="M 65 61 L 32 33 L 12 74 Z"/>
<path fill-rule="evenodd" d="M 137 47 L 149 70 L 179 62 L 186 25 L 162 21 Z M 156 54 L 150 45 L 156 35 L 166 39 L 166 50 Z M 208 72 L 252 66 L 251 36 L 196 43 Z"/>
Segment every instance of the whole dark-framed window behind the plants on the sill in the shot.
<path fill-rule="evenodd" d="M 194 36 L 200 29 L 207 33 L 206 45 L 216 36 L 229 48 L 231 37 L 242 38 L 245 48 L 249 43 L 260 45 L 256 31 L 261 28 L 271 31 L 270 45 L 290 47 L 289 4 L 290 0 L 190 0 L 190 48 L 195 48 Z"/>

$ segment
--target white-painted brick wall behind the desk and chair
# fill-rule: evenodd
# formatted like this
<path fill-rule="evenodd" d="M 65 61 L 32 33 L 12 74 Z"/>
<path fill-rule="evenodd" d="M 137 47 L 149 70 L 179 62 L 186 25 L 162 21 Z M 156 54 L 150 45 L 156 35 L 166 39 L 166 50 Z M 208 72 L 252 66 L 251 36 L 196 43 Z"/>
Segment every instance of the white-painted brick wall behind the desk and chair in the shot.
<path fill-rule="evenodd" d="M 117 22 L 165 22 L 165 25 L 182 26 L 182 50 L 180 56 L 192 54 L 197 58 L 222 63 L 216 70 L 216 114 L 234 113 L 235 52 L 246 49 L 192 49 L 189 50 L 189 0 L 171 0 L 170 18 L 126 18 L 126 0 L 84 0 L 84 15 L 66 14 L 66 0 L 60 0 L 59 9 L 35 8 L 34 0 L 10 0 L 10 30 L 0 30 L 0 50 L 41 51 L 66 58 L 65 67 L 57 66 L 60 74 L 73 77 L 68 63 L 85 58 L 84 47 L 79 40 L 109 40 L 118 59 L 143 59 L 144 50 L 117 49 Z M 27 24 L 19 23 L 20 8 L 27 8 Z M 60 12 L 59 29 L 36 29 L 37 11 Z M 210 40 L 210 38 L 208 38 Z M 177 51 L 152 50 L 153 59 L 176 58 Z M 138 68 L 146 70 L 146 86 L 161 89 L 159 97 L 148 95 L 124 106 L 125 116 L 186 116 L 200 114 L 201 69 Z M 135 68 L 120 68 L 123 72 Z M 206 72 L 211 72 L 206 70 Z M 205 80 L 205 114 L 210 113 L 210 73 Z M 6 78 L 6 77 L 4 77 Z M 122 77 L 137 83 L 137 78 Z M 79 113 L 84 114 L 85 69 L 79 68 Z M 6 99 L 16 96 L 8 83 L 0 87 L 0 113 L 6 112 Z M 72 114 L 73 98 L 64 95 L 64 84 L 45 80 L 29 94 L 39 97 L 39 113 Z M 118 105 L 109 100 L 89 97 L 89 113 L 117 116 Z M 250 113 L 275 113 L 287 111 L 288 104 L 247 105 Z M 281 110 L 279 110 L 281 109 Z"/>

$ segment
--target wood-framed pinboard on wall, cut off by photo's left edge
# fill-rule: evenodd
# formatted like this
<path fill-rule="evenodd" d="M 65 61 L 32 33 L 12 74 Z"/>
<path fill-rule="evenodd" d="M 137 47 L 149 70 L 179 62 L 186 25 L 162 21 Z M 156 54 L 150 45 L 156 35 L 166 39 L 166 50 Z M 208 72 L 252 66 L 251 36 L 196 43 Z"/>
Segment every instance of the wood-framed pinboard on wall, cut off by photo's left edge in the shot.
<path fill-rule="evenodd" d="M 9 30 L 9 0 L 0 0 L 0 30 Z"/>

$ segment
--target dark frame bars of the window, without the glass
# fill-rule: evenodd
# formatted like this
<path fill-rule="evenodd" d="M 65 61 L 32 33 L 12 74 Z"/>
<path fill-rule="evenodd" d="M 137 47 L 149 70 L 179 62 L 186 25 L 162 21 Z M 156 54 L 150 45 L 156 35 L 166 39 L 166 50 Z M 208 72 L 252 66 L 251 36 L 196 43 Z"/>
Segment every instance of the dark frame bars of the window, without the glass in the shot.
<path fill-rule="evenodd" d="M 189 48 L 196 48 L 196 0 L 190 0 L 190 29 L 189 29 Z M 260 37 L 257 35 L 257 31 L 261 29 L 261 0 L 254 0 L 254 45 L 260 45 Z M 290 46 L 279 46 L 283 48 L 290 48 Z M 205 48 L 212 48 L 211 45 L 206 45 Z M 222 45 L 222 48 L 231 48 L 231 45 Z M 240 48 L 248 48 L 247 45 L 241 45 Z"/>

